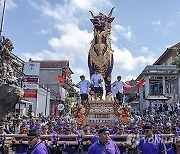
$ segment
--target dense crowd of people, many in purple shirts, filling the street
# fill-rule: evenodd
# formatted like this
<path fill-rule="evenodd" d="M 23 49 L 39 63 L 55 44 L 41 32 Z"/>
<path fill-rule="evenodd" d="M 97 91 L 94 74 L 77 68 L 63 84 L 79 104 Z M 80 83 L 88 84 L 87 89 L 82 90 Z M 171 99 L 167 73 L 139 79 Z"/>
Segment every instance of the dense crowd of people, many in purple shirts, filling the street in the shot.
<path fill-rule="evenodd" d="M 14 153 L 156 154 L 167 152 L 168 154 L 177 154 L 180 152 L 179 117 L 179 110 L 173 113 L 162 111 L 141 116 L 134 115 L 134 121 L 127 124 L 84 125 L 78 128 L 73 118 L 33 118 L 8 114 L 1 120 L 0 149 L 2 153 L 6 153 L 7 134 L 27 134 L 25 138 L 17 136 L 10 138 L 11 150 Z M 169 136 L 161 137 L 162 134 L 169 134 Z M 52 136 L 40 138 L 41 135 Z M 58 137 L 58 135 L 68 135 L 68 138 Z M 73 137 L 74 135 L 76 136 Z M 90 135 L 90 137 L 85 138 L 84 135 Z M 118 137 L 118 135 L 127 136 Z M 141 135 L 145 135 L 145 137 Z M 28 141 L 28 144 L 23 141 Z M 64 142 L 59 144 L 58 141 Z M 77 144 L 71 145 L 69 141 Z"/>

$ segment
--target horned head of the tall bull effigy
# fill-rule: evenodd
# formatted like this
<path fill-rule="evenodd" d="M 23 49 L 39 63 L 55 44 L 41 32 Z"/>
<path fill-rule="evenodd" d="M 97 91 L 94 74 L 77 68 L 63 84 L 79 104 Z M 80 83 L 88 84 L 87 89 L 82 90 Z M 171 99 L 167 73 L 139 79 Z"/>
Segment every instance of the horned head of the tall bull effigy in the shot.
<path fill-rule="evenodd" d="M 114 8 L 115 7 L 113 7 L 111 9 L 110 13 L 107 16 L 101 12 L 99 12 L 99 14 L 97 16 L 94 16 L 93 13 L 91 11 L 89 11 L 92 16 L 92 19 L 90 19 L 90 20 L 93 23 L 94 28 L 96 30 L 100 30 L 100 31 L 105 30 L 105 27 L 107 26 L 106 24 L 110 24 L 114 20 L 114 17 L 111 18 Z"/>

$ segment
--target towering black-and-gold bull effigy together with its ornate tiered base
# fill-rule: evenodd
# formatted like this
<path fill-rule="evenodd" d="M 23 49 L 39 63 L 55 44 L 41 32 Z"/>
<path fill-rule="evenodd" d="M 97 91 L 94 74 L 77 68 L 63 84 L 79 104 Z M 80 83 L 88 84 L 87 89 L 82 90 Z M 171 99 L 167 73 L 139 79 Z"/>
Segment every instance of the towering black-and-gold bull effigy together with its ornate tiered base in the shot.
<path fill-rule="evenodd" d="M 114 100 L 111 94 L 111 72 L 113 69 L 113 50 L 111 48 L 111 9 L 108 15 L 99 13 L 97 16 L 90 11 L 92 15 L 91 22 L 94 26 L 94 38 L 88 54 L 88 66 L 90 76 L 98 70 L 102 74 L 105 81 L 106 98 L 99 99 L 92 91 L 89 99 L 82 104 L 74 106 L 74 117 L 79 124 L 83 125 L 109 125 L 115 123 L 128 123 L 132 120 L 129 106 L 122 107 L 119 102 Z"/>

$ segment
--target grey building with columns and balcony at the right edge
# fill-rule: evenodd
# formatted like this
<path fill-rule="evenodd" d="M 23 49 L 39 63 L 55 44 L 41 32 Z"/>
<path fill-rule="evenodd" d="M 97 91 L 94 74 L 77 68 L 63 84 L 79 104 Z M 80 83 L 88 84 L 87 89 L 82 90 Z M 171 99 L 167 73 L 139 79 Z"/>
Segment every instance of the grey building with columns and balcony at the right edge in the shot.
<path fill-rule="evenodd" d="M 139 89 L 140 111 L 149 110 L 159 104 L 168 103 L 176 105 L 180 101 L 180 78 L 177 68 L 172 65 L 176 56 L 175 48 L 180 43 L 168 48 L 153 65 L 144 68 L 136 81 L 146 80 Z"/>

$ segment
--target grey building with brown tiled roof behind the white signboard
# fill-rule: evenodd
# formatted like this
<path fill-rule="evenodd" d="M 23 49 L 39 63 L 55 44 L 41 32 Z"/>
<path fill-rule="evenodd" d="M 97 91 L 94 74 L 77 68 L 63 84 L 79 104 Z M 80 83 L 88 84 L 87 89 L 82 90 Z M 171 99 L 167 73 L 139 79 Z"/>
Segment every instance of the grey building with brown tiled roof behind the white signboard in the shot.
<path fill-rule="evenodd" d="M 59 116 L 58 105 L 64 103 L 71 88 L 72 70 L 69 61 L 47 60 L 40 63 L 39 84 L 50 91 L 50 115 Z M 61 81 L 59 81 L 59 77 Z"/>

